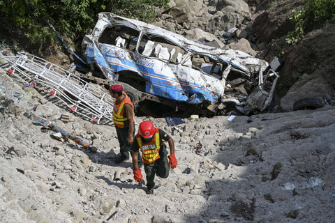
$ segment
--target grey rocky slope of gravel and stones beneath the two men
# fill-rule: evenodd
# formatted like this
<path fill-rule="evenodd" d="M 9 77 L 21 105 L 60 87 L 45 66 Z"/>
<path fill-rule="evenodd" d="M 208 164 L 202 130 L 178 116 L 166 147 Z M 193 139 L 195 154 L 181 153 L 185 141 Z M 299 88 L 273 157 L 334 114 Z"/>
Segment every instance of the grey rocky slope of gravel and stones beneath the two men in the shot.
<path fill-rule="evenodd" d="M 73 116 L 0 70 L 13 100 L 0 118 L 1 222 L 334 221 L 334 107 L 232 121 L 186 118 L 177 126 L 135 117 L 171 134 L 178 160 L 167 179 L 156 178 L 154 195 L 146 195 L 131 161 L 114 163 L 113 126 Z M 55 139 L 23 112 L 75 131 L 98 151 Z"/>

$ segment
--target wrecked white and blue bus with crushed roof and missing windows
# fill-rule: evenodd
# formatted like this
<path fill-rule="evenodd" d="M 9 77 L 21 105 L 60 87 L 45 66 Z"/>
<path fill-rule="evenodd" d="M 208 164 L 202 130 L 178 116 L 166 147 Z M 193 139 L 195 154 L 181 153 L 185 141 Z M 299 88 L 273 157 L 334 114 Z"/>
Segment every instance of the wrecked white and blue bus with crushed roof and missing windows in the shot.
<path fill-rule="evenodd" d="M 139 108 L 145 114 L 159 107 L 148 101 L 202 116 L 236 109 L 263 112 L 278 79 L 262 59 L 112 13 L 98 14 L 96 26 L 84 36 L 82 54 L 91 69 L 124 86 L 135 106 L 143 102 Z"/>

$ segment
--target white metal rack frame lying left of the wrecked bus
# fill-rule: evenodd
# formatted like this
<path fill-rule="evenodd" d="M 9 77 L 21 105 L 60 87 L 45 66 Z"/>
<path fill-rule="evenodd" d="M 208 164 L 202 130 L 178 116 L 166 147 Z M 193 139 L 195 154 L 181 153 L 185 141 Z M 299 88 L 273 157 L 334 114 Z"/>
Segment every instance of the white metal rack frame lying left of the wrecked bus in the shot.
<path fill-rule="evenodd" d="M 73 75 L 37 56 L 18 52 L 16 56 L 3 56 L 12 64 L 8 70 L 27 84 L 41 84 L 51 95 L 63 101 L 73 112 L 99 123 L 101 118 L 113 119 L 114 98 L 93 84 Z"/>

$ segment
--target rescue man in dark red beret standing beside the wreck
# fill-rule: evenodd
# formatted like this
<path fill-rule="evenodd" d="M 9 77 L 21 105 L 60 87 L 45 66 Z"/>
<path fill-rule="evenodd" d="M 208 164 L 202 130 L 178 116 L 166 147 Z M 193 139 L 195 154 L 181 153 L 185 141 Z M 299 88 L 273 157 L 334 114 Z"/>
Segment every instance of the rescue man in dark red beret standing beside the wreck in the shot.
<path fill-rule="evenodd" d="M 110 95 L 115 98 L 113 121 L 120 145 L 120 156 L 115 160 L 117 164 L 129 159 L 131 144 L 135 137 L 134 105 L 123 90 L 124 88 L 118 84 L 110 86 Z"/>

